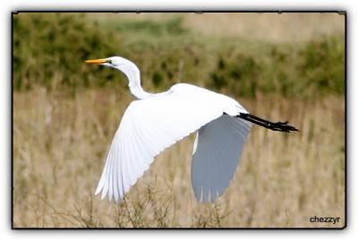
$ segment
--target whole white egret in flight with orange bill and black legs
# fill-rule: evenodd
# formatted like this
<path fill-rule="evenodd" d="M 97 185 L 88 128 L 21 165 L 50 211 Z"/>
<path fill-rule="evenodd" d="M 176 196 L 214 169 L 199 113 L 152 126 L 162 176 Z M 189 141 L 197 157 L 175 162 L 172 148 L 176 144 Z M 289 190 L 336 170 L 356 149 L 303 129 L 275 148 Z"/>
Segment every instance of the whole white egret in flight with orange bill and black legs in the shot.
<path fill-rule="evenodd" d="M 271 122 L 251 115 L 235 99 L 189 83 L 149 93 L 141 87 L 141 72 L 132 61 L 112 56 L 86 60 L 121 71 L 133 100 L 115 132 L 95 194 L 121 202 L 154 158 L 185 136 L 196 133 L 192 150 L 192 189 L 198 202 L 215 202 L 238 166 L 251 125 L 272 131 L 298 131 L 288 122 Z"/>

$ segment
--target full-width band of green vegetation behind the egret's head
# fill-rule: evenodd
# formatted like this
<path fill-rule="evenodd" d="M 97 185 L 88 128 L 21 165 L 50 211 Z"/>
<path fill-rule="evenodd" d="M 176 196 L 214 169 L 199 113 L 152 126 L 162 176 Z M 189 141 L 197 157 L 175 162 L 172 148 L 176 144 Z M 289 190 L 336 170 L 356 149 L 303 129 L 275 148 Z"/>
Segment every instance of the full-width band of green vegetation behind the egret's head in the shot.
<path fill-rule="evenodd" d="M 175 82 L 243 97 L 275 93 L 310 98 L 345 90 L 341 36 L 301 45 L 211 39 L 196 36 L 180 17 L 107 24 L 85 14 L 20 13 L 13 23 L 15 90 L 38 85 L 48 90 L 124 87 L 120 73 L 83 65 L 84 59 L 115 55 L 139 65 L 144 87 L 153 91 L 166 90 Z"/>

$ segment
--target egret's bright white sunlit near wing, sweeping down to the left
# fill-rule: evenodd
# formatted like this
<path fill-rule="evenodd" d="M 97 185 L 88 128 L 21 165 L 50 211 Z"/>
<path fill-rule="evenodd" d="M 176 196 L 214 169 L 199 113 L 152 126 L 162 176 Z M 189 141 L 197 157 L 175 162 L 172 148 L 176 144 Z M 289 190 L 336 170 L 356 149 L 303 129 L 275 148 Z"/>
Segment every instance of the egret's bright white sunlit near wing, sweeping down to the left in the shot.
<path fill-rule="evenodd" d="M 115 133 L 96 194 L 118 202 L 159 152 L 222 114 L 205 98 L 183 97 L 180 91 L 133 101 Z"/>

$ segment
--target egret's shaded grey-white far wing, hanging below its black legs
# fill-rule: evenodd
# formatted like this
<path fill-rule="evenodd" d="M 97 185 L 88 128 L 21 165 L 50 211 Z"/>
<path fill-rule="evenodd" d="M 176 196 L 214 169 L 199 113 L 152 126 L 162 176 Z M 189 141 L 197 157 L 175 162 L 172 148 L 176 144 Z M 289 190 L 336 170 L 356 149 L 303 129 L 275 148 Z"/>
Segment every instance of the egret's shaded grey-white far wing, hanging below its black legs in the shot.
<path fill-rule="evenodd" d="M 234 176 L 251 124 L 224 115 L 200 128 L 192 156 L 192 187 L 198 201 L 215 202 Z M 209 199 L 210 196 L 210 199 Z"/>

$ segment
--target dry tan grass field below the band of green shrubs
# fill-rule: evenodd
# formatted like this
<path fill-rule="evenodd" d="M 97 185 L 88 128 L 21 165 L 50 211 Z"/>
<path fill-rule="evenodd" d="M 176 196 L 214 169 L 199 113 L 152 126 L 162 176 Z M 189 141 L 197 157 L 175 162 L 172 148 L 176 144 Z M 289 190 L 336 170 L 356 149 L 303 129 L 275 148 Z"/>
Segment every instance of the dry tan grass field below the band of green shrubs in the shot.
<path fill-rule="evenodd" d="M 193 135 L 158 156 L 119 205 L 94 196 L 125 107 L 124 90 L 14 94 L 14 227 L 343 227 L 345 107 L 337 97 L 241 99 L 300 133 L 253 126 L 239 168 L 215 204 L 196 202 Z M 340 217 L 311 223 L 313 216 Z"/>

